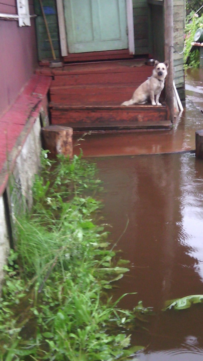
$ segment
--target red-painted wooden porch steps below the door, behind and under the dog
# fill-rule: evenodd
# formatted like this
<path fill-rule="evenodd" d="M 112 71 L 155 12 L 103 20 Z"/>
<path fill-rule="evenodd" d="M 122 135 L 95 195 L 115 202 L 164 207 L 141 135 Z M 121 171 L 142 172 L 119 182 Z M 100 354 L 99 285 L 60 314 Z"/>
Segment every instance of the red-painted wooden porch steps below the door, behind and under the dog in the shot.
<path fill-rule="evenodd" d="M 152 67 L 144 60 L 118 60 L 40 67 L 38 74 L 51 75 L 49 109 L 51 124 L 77 131 L 132 131 L 170 129 L 168 109 L 150 104 L 121 106 Z"/>

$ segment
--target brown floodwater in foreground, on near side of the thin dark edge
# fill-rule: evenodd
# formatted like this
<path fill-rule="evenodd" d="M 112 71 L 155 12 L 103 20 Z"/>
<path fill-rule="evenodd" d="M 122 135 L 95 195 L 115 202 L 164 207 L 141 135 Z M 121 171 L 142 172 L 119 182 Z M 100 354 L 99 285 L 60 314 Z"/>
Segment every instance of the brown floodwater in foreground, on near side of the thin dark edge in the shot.
<path fill-rule="evenodd" d="M 94 159 L 95 161 L 95 159 Z M 113 242 L 133 266 L 120 290 L 122 299 L 153 306 L 148 331 L 132 335 L 145 345 L 140 361 L 203 357 L 203 305 L 162 312 L 164 301 L 203 293 L 203 161 L 193 154 L 96 158 L 104 181 L 105 219 Z"/>

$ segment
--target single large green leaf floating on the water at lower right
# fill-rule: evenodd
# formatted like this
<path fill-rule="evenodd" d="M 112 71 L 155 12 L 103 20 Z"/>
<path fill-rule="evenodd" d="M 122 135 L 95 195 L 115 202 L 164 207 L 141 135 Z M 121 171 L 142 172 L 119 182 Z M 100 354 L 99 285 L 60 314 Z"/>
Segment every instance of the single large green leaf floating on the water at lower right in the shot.
<path fill-rule="evenodd" d="M 175 310 L 184 310 L 195 303 L 203 303 L 203 295 L 191 295 L 176 300 L 166 301 L 163 311 L 167 309 L 170 310 L 172 308 L 174 308 Z"/>

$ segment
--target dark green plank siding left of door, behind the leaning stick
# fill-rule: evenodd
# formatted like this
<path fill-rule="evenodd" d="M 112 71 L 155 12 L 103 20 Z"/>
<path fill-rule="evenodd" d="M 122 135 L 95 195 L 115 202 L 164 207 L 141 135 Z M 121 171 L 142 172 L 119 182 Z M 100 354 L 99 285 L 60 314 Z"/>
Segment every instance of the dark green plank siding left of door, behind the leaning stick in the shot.
<path fill-rule="evenodd" d="M 56 57 L 59 57 L 60 42 L 59 42 L 59 29 L 58 29 L 57 12 L 56 12 L 56 1 L 42 0 L 42 3 L 49 27 L 49 32 L 51 34 L 55 55 Z M 35 14 L 37 15 L 36 36 L 38 43 L 38 58 L 39 60 L 52 59 L 53 57 L 52 57 L 51 46 L 49 43 L 47 30 L 42 16 L 39 0 L 34 0 L 34 5 L 35 5 Z"/>

